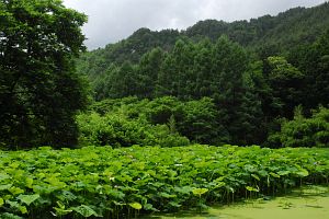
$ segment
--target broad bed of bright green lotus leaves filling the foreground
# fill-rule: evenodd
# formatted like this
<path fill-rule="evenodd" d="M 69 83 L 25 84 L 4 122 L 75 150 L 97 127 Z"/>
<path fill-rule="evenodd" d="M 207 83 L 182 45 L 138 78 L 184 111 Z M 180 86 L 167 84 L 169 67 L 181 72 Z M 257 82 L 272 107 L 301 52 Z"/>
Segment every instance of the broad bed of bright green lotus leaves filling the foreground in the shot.
<path fill-rule="evenodd" d="M 0 151 L 0 218 L 203 211 L 328 185 L 329 150 L 189 146 Z"/>

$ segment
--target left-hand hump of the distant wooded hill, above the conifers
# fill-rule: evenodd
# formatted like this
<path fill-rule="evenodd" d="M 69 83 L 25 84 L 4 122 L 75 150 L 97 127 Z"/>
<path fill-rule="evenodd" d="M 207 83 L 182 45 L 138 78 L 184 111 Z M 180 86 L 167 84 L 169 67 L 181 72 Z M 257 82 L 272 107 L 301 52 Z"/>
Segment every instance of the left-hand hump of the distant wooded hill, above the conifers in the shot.
<path fill-rule="evenodd" d="M 77 60 L 77 69 L 93 80 L 107 71 L 111 64 L 122 65 L 127 60 L 137 64 L 146 53 L 157 47 L 166 51 L 170 50 L 179 37 L 180 33 L 174 30 L 152 32 L 148 28 L 140 28 L 126 39 L 109 44 L 104 49 L 84 53 Z"/>

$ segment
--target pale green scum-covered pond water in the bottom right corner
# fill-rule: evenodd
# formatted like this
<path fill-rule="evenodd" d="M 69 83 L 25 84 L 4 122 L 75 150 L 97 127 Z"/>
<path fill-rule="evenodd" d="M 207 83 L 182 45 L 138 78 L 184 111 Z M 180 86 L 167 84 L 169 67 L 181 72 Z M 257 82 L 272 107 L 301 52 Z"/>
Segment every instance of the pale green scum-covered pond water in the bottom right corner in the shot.
<path fill-rule="evenodd" d="M 154 215 L 145 219 L 329 219 L 329 187 L 304 187 L 269 200 L 215 206 L 203 214 Z"/>

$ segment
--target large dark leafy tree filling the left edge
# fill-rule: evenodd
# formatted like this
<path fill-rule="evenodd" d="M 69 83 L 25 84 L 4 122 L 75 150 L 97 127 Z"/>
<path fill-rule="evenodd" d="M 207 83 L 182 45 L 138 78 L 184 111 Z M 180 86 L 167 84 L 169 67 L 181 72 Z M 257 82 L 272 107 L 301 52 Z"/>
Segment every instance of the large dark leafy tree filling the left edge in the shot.
<path fill-rule="evenodd" d="M 8 148 L 71 146 L 87 83 L 72 58 L 84 48 L 84 14 L 59 0 L 0 2 L 0 141 Z"/>

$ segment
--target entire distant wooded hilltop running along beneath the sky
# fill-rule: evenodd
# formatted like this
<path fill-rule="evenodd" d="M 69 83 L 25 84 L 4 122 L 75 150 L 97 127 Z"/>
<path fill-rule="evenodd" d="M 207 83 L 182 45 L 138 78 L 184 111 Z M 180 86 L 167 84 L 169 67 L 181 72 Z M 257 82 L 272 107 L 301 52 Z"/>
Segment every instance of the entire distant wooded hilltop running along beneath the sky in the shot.
<path fill-rule="evenodd" d="M 328 28 L 329 3 L 314 8 L 295 8 L 276 16 L 264 15 L 250 21 L 206 20 L 185 31 L 163 30 L 160 32 L 140 28 L 132 36 L 105 48 L 87 53 L 79 59 L 78 70 L 90 77 L 104 72 L 112 64 L 131 61 L 137 64 L 140 57 L 155 47 L 168 51 L 178 38 L 200 41 L 208 37 L 217 41 L 227 35 L 231 41 L 253 50 L 257 55 L 286 54 L 300 45 L 313 43 Z"/>

